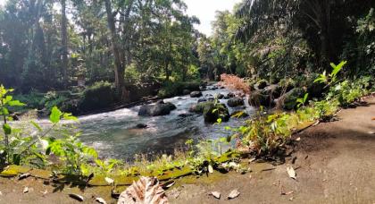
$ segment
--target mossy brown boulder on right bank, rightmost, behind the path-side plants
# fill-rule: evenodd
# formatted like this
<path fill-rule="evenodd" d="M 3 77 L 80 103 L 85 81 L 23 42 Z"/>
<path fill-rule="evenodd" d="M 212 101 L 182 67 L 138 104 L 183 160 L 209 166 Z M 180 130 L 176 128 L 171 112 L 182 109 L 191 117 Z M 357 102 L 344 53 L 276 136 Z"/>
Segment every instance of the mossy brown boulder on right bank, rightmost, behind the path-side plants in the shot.
<path fill-rule="evenodd" d="M 297 105 L 297 98 L 304 97 L 304 89 L 295 88 L 288 91 L 286 94 L 276 100 L 277 107 L 285 110 L 292 110 Z"/>

